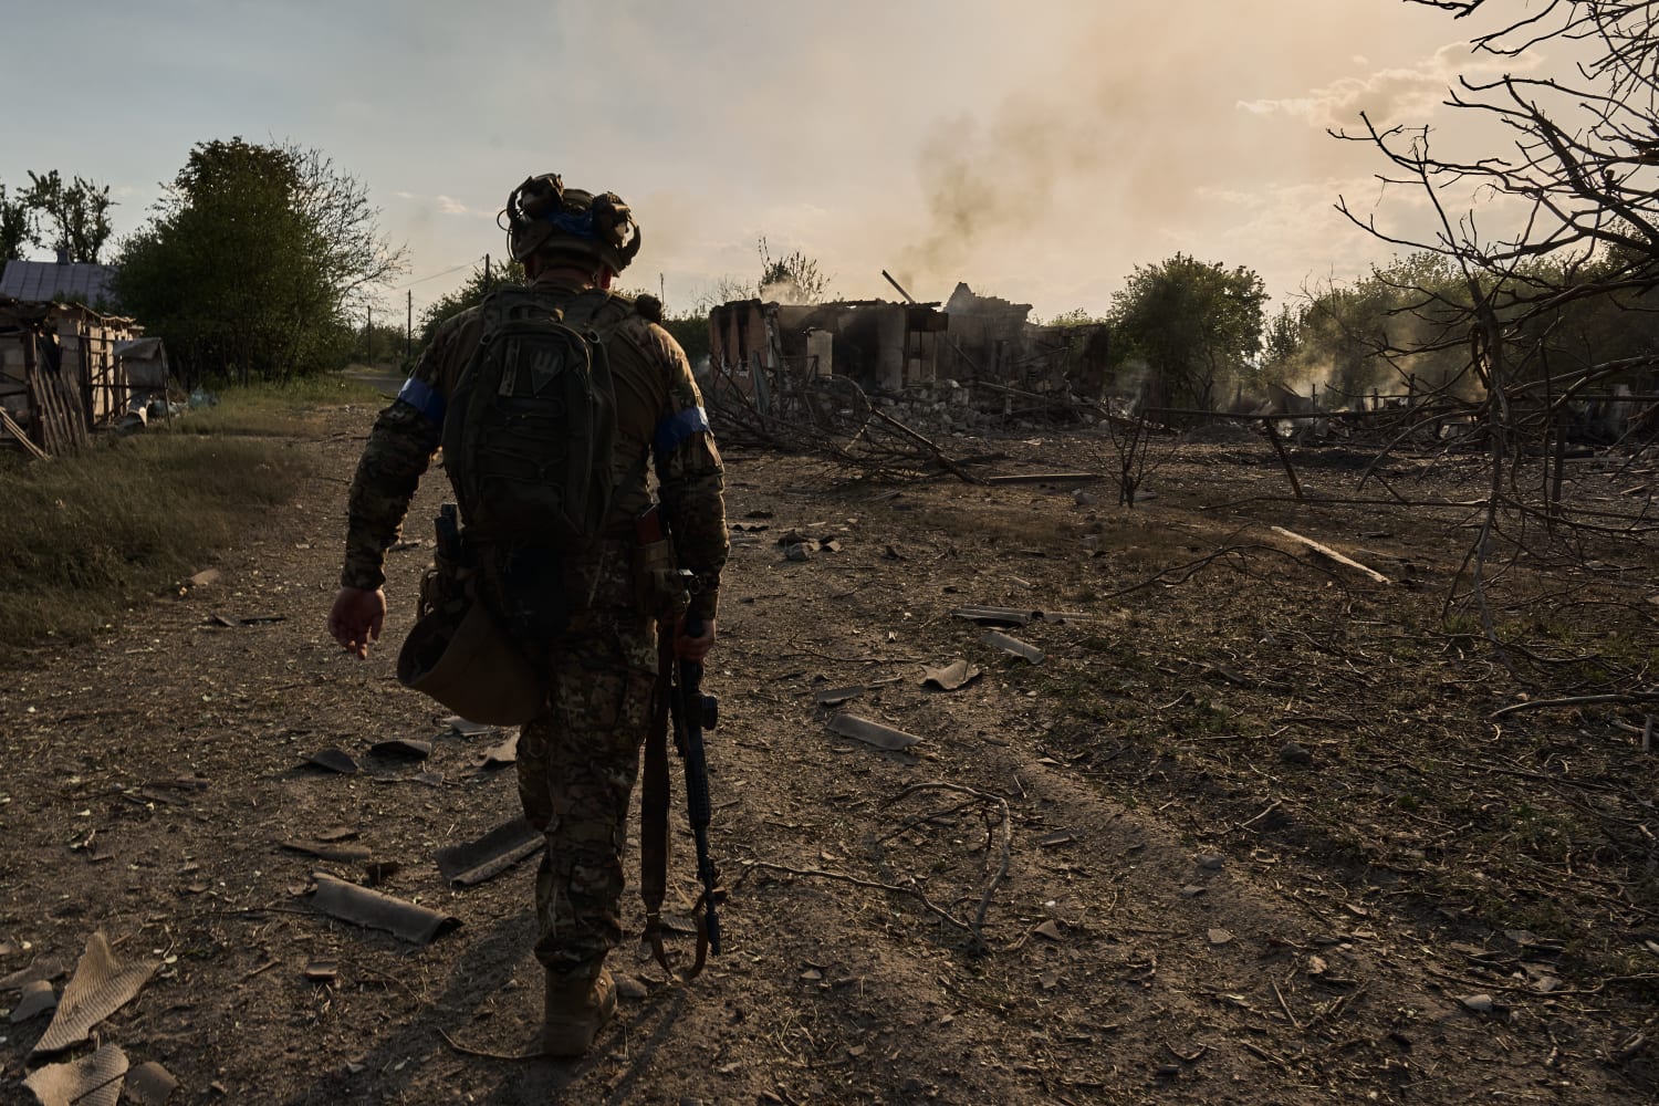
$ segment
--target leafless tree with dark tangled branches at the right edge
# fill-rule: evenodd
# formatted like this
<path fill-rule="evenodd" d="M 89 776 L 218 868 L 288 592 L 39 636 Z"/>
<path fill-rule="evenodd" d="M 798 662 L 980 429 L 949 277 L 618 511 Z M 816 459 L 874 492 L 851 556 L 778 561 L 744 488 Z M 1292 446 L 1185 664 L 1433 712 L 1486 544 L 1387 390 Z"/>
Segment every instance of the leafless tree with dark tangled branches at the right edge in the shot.
<path fill-rule="evenodd" d="M 1438 255 L 1453 274 L 1452 282 L 1404 289 L 1399 310 L 1422 325 L 1412 328 L 1412 345 L 1387 353 L 1462 348 L 1473 391 L 1483 396 L 1478 428 L 1490 488 L 1448 612 L 1472 605 L 1496 643 L 1488 585 L 1516 557 L 1571 547 L 1591 532 L 1636 539 L 1651 529 L 1637 514 L 1569 509 L 1563 458 L 1573 418 L 1598 395 L 1616 385 L 1654 391 L 1659 5 L 1405 2 L 1453 18 L 1491 17 L 1472 50 L 1513 70 L 1495 80 L 1460 78 L 1445 99 L 1465 119 L 1495 123 L 1485 133 L 1506 136 L 1498 149 L 1455 158 L 1432 146 L 1427 124 L 1382 128 L 1365 114 L 1360 128 L 1334 131 L 1380 151 L 1389 163 L 1379 174 L 1385 196 L 1407 187 L 1427 197 L 1435 216 L 1427 232 L 1413 234 L 1355 211 L 1345 197 L 1337 202 L 1370 234 Z M 1536 68 L 1545 55 L 1559 71 Z M 1636 429 L 1637 420 L 1621 424 L 1621 433 Z"/>

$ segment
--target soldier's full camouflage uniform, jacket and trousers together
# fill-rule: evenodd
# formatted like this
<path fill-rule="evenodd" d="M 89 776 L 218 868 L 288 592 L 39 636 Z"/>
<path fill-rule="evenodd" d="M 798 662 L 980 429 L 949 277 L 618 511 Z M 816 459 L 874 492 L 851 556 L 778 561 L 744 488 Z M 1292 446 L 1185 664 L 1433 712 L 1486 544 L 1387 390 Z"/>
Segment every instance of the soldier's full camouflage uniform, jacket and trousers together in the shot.
<path fill-rule="evenodd" d="M 533 287 L 547 290 L 554 305 L 606 295 L 552 282 Z M 566 978 L 597 973 L 622 937 L 627 806 L 657 680 L 655 625 L 637 610 L 630 564 L 632 521 L 650 504 L 647 453 L 679 564 L 697 577 L 692 617 L 715 617 L 728 551 L 720 453 L 685 353 L 625 297 L 611 297 L 599 318 L 615 322 L 606 342 L 617 398 L 611 519 L 591 554 L 564 560 L 566 633 L 521 642 L 551 688 L 547 710 L 524 725 L 518 748 L 524 814 L 547 836 L 536 874 L 536 957 L 549 975 Z M 342 585 L 377 589 L 385 580 L 385 549 L 438 448 L 445 403 L 481 332 L 479 308 L 446 320 L 375 421 L 352 483 Z M 503 580 L 513 552 L 506 544 L 479 551 L 481 595 L 504 614 L 514 610 Z"/>

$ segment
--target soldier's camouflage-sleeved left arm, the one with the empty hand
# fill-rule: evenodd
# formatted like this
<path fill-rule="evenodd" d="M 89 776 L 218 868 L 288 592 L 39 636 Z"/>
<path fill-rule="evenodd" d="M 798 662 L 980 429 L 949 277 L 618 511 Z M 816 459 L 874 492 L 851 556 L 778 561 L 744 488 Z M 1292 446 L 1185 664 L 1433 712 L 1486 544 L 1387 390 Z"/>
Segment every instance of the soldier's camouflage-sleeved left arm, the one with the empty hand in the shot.
<path fill-rule="evenodd" d="M 380 413 L 368 434 L 347 499 L 342 587 L 375 590 L 387 580 L 387 549 L 403 527 L 410 499 L 441 438 L 441 365 L 455 332 L 450 323 L 438 330 L 398 398 Z"/>

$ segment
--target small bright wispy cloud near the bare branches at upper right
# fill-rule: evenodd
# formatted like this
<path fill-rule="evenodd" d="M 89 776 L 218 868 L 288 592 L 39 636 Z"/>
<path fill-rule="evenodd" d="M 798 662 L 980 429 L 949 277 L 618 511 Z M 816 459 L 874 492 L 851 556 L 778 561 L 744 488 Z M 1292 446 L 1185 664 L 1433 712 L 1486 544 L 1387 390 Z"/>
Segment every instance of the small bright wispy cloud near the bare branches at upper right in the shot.
<path fill-rule="evenodd" d="M 1415 66 L 1390 66 L 1365 76 L 1345 76 L 1304 96 L 1282 99 L 1241 99 L 1238 109 L 1249 114 L 1282 114 L 1306 119 L 1319 129 L 1340 129 L 1359 121 L 1360 111 L 1385 129 L 1422 123 L 1447 99 L 1458 78 L 1491 80 L 1503 73 L 1520 73 L 1541 65 L 1536 50 L 1513 58 L 1470 55 L 1467 43 L 1442 46 Z"/>

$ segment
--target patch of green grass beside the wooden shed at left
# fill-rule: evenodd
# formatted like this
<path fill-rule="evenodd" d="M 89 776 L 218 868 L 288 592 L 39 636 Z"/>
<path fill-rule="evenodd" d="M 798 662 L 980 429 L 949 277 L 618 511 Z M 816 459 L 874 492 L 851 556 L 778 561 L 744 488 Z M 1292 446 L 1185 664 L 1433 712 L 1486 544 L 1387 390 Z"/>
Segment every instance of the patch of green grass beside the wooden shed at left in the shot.
<path fill-rule="evenodd" d="M 0 663 L 85 640 L 229 547 L 307 471 L 319 408 L 377 403 L 335 378 L 226 391 L 217 406 L 78 456 L 0 466 Z"/>

